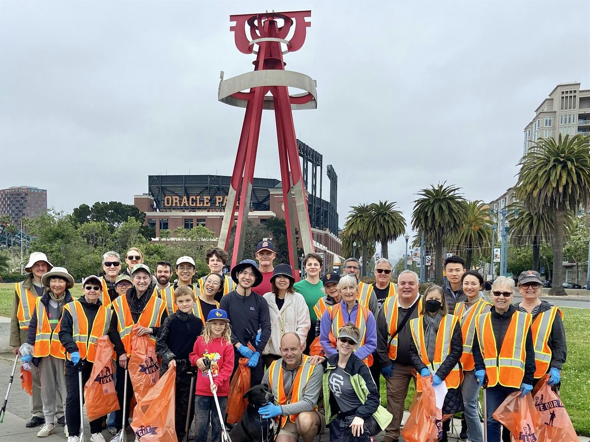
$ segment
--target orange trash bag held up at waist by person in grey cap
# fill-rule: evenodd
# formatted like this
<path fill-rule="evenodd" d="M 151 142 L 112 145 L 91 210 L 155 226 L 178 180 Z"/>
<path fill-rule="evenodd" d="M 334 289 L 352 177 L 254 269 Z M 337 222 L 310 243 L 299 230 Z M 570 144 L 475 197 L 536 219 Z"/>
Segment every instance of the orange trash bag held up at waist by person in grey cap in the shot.
<path fill-rule="evenodd" d="M 135 399 L 139 402 L 160 378 L 160 364 L 156 354 L 156 344 L 148 335 L 137 336 L 139 324 L 131 329 L 131 357 L 129 358 L 129 378 L 133 385 Z"/>

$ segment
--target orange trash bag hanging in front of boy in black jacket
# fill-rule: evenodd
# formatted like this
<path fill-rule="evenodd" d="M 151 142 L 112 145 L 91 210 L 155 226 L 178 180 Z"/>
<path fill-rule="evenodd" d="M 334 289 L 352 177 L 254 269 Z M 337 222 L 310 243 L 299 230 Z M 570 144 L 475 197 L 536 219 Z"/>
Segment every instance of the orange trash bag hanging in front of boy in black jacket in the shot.
<path fill-rule="evenodd" d="M 176 442 L 176 368 L 171 367 L 135 405 L 131 427 L 141 442 Z"/>

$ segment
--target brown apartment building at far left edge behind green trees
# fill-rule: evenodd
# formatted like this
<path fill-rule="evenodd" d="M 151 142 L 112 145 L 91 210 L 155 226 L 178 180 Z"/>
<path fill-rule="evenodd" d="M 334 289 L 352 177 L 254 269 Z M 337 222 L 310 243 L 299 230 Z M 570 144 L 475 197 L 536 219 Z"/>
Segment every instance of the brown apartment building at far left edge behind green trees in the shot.
<path fill-rule="evenodd" d="M 14 186 L 0 189 L 0 215 L 9 215 L 17 224 L 21 218 L 34 219 L 47 213 L 47 190 Z"/>

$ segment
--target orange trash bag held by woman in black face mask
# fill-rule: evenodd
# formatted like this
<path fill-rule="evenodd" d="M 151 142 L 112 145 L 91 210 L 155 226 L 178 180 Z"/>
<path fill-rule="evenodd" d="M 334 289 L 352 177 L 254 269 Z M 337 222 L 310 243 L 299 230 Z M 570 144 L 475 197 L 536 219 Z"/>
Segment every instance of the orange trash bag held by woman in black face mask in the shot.
<path fill-rule="evenodd" d="M 424 377 L 421 381 L 422 394 L 418 399 L 414 396 L 402 436 L 407 442 L 437 442 L 438 423 L 442 423 L 442 413 L 440 409 L 437 410 L 432 377 Z"/>

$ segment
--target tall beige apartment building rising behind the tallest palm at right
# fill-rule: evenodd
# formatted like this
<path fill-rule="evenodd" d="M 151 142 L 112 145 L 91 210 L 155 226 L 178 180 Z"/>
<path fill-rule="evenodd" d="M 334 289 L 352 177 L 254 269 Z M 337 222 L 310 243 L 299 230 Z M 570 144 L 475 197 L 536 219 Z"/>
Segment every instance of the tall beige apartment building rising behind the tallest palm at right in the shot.
<path fill-rule="evenodd" d="M 525 127 L 523 153 L 540 138 L 590 135 L 590 90 L 579 83 L 561 83 L 535 109 L 535 118 Z"/>

